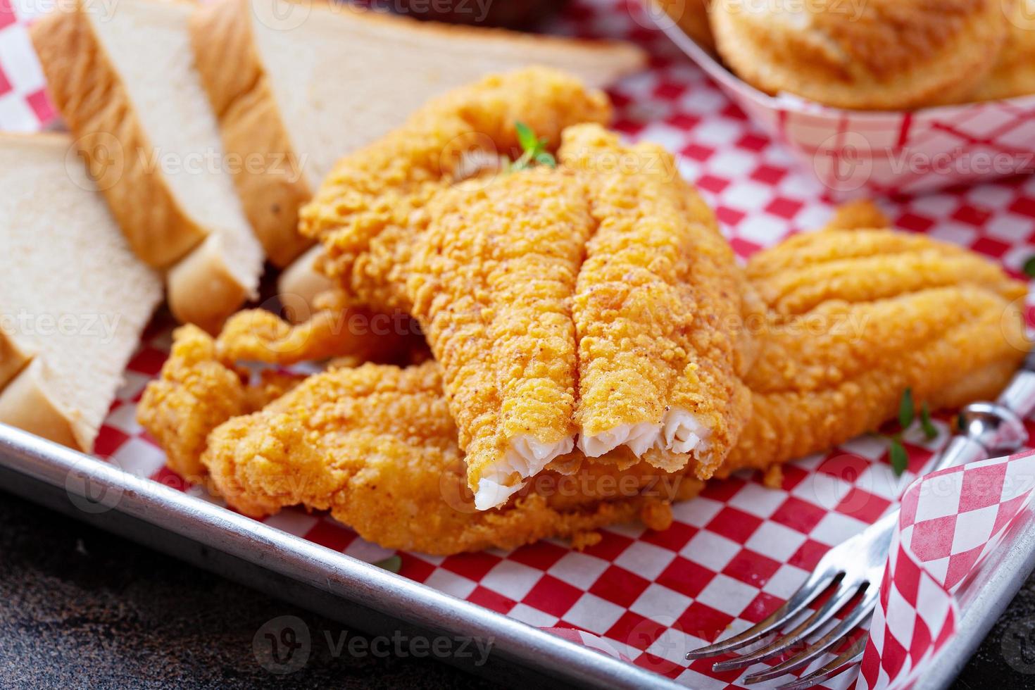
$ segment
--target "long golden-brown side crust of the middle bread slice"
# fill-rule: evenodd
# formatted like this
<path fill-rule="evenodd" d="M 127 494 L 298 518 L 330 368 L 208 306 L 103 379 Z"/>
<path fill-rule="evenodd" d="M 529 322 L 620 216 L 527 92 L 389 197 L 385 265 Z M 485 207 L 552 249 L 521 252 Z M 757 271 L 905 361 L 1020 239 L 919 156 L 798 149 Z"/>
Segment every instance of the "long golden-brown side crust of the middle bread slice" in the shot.
<path fill-rule="evenodd" d="M 205 239 L 167 181 L 148 170 L 153 147 L 128 92 L 81 6 L 34 24 L 48 92 L 134 253 L 166 268 Z"/>

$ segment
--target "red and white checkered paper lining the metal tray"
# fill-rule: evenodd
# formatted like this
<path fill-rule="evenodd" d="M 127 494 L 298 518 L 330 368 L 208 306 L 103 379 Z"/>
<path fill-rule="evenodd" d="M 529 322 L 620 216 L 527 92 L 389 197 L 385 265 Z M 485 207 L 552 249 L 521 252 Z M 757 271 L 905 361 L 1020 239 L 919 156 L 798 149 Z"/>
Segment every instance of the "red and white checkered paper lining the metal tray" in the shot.
<path fill-rule="evenodd" d="M 42 95 L 42 78 L 25 36 L 25 18 L 35 8 L 19 7 L 14 19 L 10 2 L 0 0 L 0 129 L 31 130 L 46 125 L 53 109 Z M 785 146 L 757 128 L 700 67 L 650 27 L 634 0 L 576 0 L 554 26 L 562 33 L 626 38 L 650 52 L 650 68 L 612 90 L 616 126 L 679 156 L 683 174 L 716 209 L 740 256 L 821 226 L 833 205 L 830 189 L 810 170 L 796 169 Z M 971 247 L 1014 273 L 1035 252 L 1033 178 L 899 197 L 883 206 L 897 227 Z M 169 346 L 168 324 L 156 323 L 145 333 L 96 453 L 138 476 L 209 498 L 164 469 L 164 454 L 135 419 L 141 391 L 157 376 Z M 919 436 L 907 444 L 910 476 L 948 438 L 945 421 L 936 423 L 941 430 L 936 441 Z M 929 662 L 938 646 L 917 632 L 922 627 L 934 631 L 934 640 L 951 634 L 958 604 L 939 589 L 940 582 L 950 571 L 952 581 L 958 581 L 977 563 L 973 549 L 995 545 L 987 515 L 999 514 L 998 500 L 984 504 L 972 498 L 971 478 L 988 486 L 986 474 L 1006 476 L 1010 467 L 994 461 L 957 471 L 958 501 L 953 494 L 938 507 L 928 507 L 924 485 L 908 494 L 916 510 L 907 511 L 912 521 L 896 541 L 884 608 L 860 681 L 866 687 L 901 685 Z M 753 476 L 712 483 L 698 499 L 674 506 L 675 522 L 666 532 L 618 526 L 582 552 L 545 540 L 512 551 L 447 558 L 401 553 L 402 574 L 686 686 L 740 687 L 746 671 L 715 673 L 711 660 L 686 662 L 684 653 L 764 618 L 831 545 L 891 507 L 910 476 L 893 476 L 884 442 L 860 438 L 787 466 L 779 489 L 765 488 Z M 1006 498 L 1015 503 L 1007 502 L 1004 515 L 1027 505 L 1012 494 Z M 942 521 L 933 528 L 930 519 Z M 391 554 L 325 516 L 289 510 L 265 522 L 365 561 Z M 1000 522 L 993 518 L 992 526 Z M 942 550 L 927 546 L 930 533 Z M 952 565 L 943 564 L 945 559 Z M 920 583 L 913 584 L 916 572 L 921 572 Z M 848 687 L 854 676 L 842 674 L 827 687 Z"/>

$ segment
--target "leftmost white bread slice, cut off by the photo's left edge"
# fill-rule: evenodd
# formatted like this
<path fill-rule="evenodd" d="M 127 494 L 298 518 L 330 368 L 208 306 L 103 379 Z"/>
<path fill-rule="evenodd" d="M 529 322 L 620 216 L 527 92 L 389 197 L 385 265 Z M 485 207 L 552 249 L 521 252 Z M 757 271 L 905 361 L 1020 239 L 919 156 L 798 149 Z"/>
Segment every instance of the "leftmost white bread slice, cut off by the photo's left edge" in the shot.
<path fill-rule="evenodd" d="M 0 422 L 89 452 L 161 279 L 70 138 L 0 134 Z"/>

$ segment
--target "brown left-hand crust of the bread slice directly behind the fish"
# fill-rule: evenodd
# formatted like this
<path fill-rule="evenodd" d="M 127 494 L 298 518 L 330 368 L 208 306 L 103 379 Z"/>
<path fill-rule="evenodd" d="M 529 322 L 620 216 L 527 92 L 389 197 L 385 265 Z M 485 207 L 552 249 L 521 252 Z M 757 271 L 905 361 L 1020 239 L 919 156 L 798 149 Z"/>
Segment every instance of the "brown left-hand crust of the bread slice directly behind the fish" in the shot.
<path fill-rule="evenodd" d="M 266 256 L 276 266 L 287 266 L 313 244 L 296 229 L 298 209 L 319 180 L 305 180 L 291 146 L 256 50 L 248 0 L 200 8 L 190 17 L 190 41 L 227 154 L 263 161 L 258 169 L 239 167 L 234 184 Z"/>

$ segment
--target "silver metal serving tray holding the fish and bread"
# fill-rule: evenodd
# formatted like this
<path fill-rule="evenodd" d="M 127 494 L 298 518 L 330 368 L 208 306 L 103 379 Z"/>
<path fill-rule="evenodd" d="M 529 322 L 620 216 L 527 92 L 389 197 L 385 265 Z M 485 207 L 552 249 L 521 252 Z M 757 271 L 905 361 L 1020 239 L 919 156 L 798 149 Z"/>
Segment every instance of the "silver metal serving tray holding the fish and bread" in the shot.
<path fill-rule="evenodd" d="M 0 489 L 376 635 L 491 640 L 476 666 L 515 687 L 676 688 L 667 678 L 0 424 Z M 960 632 L 919 688 L 948 687 L 1035 568 L 1032 513 L 968 589 Z"/>

